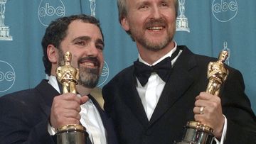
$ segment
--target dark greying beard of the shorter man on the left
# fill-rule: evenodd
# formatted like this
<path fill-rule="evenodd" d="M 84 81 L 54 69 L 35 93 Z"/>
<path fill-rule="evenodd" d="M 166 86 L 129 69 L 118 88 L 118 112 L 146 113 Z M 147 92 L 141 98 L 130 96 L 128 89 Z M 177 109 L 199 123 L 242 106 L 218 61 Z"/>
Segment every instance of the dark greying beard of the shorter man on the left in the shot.
<path fill-rule="evenodd" d="M 63 50 L 61 48 L 58 50 L 58 66 L 63 65 L 65 62 L 63 60 Z M 83 60 L 90 60 L 97 65 L 97 68 L 88 68 L 80 66 L 80 62 Z M 97 83 L 100 79 L 100 62 L 96 57 L 82 57 L 78 60 L 78 69 L 79 69 L 79 79 L 78 84 L 87 88 L 94 88 L 97 86 Z M 75 76 L 74 76 L 75 77 Z"/>

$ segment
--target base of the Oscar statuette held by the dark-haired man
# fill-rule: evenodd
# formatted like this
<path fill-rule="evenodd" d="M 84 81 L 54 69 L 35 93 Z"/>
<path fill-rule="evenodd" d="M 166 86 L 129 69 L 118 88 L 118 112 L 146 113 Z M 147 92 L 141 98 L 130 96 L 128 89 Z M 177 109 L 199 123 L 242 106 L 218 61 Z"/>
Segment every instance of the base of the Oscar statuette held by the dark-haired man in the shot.
<path fill-rule="evenodd" d="M 85 144 L 87 133 L 82 125 L 67 125 L 58 128 L 58 144 Z"/>

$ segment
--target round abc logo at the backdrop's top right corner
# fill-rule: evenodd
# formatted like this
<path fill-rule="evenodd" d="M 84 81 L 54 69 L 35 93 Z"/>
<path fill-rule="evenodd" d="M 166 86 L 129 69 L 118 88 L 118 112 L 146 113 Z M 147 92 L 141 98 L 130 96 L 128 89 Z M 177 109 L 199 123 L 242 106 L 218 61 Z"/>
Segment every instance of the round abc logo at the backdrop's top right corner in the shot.
<path fill-rule="evenodd" d="M 212 4 L 213 16 L 220 22 L 228 22 L 238 13 L 236 0 L 214 0 Z"/>

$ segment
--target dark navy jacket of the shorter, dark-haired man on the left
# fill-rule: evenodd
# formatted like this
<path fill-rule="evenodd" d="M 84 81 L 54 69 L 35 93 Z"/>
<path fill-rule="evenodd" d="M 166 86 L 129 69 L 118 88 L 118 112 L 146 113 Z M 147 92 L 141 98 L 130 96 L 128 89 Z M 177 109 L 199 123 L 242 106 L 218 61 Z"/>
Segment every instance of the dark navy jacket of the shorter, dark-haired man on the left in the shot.
<path fill-rule="evenodd" d="M 48 133 L 50 108 L 54 96 L 59 93 L 44 79 L 34 89 L 27 89 L 0 98 L 0 143 L 56 143 L 55 136 Z M 112 120 L 105 115 L 97 101 L 97 107 L 105 126 L 107 143 L 117 143 Z M 88 141 L 88 143 L 90 143 Z"/>

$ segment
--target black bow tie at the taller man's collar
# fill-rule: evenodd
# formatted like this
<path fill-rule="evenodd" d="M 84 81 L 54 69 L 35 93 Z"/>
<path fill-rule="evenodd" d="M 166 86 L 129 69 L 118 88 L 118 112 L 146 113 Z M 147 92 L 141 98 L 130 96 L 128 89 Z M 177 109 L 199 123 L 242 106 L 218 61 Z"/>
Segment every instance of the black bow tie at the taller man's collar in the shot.
<path fill-rule="evenodd" d="M 134 62 L 134 74 L 136 75 L 139 83 L 144 86 L 146 82 L 148 82 L 149 77 L 152 72 L 156 72 L 159 77 L 166 82 L 169 77 L 169 72 L 171 71 L 171 60 L 173 60 L 178 55 L 179 50 L 177 49 L 171 57 L 166 57 L 161 62 L 157 63 L 156 65 L 149 66 L 145 65 L 139 60 Z"/>

